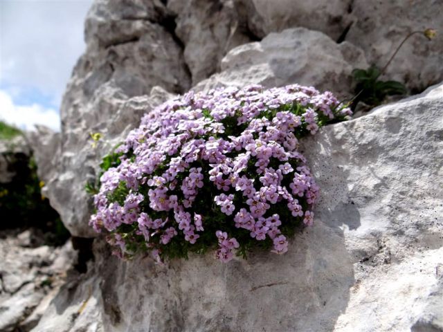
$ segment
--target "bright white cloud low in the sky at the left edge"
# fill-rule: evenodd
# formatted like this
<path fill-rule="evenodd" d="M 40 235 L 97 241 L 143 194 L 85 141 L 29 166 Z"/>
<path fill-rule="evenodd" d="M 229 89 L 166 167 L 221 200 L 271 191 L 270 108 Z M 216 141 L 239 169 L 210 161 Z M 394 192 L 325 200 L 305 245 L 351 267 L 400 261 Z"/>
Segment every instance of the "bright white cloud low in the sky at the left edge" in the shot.
<path fill-rule="evenodd" d="M 60 116 L 55 109 L 39 104 L 17 105 L 6 91 L 0 90 L 0 120 L 24 130 L 33 130 L 34 124 L 44 124 L 60 131 Z"/>

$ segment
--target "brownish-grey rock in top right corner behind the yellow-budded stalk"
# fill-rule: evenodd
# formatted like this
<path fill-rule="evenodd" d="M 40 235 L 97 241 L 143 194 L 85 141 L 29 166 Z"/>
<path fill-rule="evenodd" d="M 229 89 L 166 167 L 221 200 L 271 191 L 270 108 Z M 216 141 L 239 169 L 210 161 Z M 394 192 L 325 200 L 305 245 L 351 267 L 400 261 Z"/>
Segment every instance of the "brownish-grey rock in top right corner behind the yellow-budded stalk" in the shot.
<path fill-rule="evenodd" d="M 408 33 L 436 29 L 437 37 L 432 41 L 423 35 L 408 39 L 386 71 L 390 80 L 423 91 L 443 80 L 442 10 L 442 1 L 355 0 L 351 14 L 354 23 L 346 40 L 363 48 L 368 62 L 382 68 Z"/>

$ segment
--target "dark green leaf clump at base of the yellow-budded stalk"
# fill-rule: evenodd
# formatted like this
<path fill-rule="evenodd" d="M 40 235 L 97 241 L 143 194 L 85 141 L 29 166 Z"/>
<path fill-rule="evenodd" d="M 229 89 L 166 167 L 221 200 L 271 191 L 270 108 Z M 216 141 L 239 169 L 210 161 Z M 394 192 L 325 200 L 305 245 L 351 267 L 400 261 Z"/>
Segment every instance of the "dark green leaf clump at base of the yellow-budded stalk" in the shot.
<path fill-rule="evenodd" d="M 356 86 L 354 93 L 353 108 L 358 102 L 364 102 L 371 107 L 378 106 L 388 95 L 404 95 L 407 93 L 406 86 L 397 81 L 381 81 L 381 71 L 371 66 L 367 70 L 354 69 L 352 72 Z"/>

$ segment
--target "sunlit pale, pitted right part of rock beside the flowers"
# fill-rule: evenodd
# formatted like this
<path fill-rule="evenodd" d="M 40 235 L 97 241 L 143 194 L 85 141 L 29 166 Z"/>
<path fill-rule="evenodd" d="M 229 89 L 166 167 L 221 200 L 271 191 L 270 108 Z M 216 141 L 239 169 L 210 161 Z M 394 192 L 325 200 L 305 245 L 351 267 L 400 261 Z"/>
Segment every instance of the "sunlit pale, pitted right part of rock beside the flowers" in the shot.
<path fill-rule="evenodd" d="M 443 329 L 442 107 L 440 84 L 305 144 L 317 216 L 343 230 L 354 266 L 336 331 Z"/>

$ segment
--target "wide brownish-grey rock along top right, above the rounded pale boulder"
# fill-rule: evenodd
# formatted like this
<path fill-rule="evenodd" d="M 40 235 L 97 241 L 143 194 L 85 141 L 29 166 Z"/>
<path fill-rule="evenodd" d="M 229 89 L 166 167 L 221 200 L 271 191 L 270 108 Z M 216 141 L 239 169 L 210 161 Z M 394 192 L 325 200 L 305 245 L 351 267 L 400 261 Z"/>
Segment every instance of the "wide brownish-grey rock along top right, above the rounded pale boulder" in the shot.
<path fill-rule="evenodd" d="M 258 37 L 286 28 L 319 30 L 334 41 L 346 40 L 365 50 L 370 64 L 382 68 L 401 40 L 415 30 L 443 31 L 442 1 L 377 0 L 235 0 L 239 19 Z M 386 79 L 413 91 L 443 80 L 443 35 L 432 42 L 415 35 L 402 48 Z"/>

